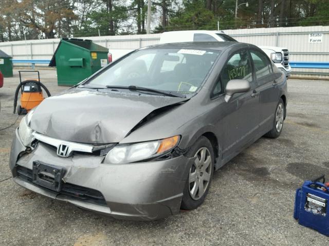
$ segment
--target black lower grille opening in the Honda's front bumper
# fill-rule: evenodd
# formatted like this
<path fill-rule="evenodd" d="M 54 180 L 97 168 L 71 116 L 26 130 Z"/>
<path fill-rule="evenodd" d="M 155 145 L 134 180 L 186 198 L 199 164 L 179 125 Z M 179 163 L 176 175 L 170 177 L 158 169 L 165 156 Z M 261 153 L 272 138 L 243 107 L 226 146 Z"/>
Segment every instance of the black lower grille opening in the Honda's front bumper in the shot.
<path fill-rule="evenodd" d="M 38 186 L 32 182 L 32 170 L 22 167 L 22 166 L 16 166 L 16 173 L 17 173 L 17 177 L 19 177 L 20 179 L 22 179 L 26 182 L 29 182 L 34 186 Z M 41 186 L 38 186 L 38 187 L 48 190 L 47 188 L 44 188 Z M 51 191 L 51 190 L 49 190 L 49 191 Z M 51 192 L 55 192 L 55 191 L 51 191 Z M 91 202 L 91 203 L 95 203 L 98 205 L 107 206 L 102 193 L 100 193 L 99 191 L 89 189 L 86 187 L 82 187 L 82 186 L 76 186 L 76 185 L 73 185 L 72 183 L 63 183 L 62 190 L 60 192 L 56 192 L 56 193 L 65 195 L 67 197 L 72 197 L 75 199 L 83 200 L 86 202 Z"/>

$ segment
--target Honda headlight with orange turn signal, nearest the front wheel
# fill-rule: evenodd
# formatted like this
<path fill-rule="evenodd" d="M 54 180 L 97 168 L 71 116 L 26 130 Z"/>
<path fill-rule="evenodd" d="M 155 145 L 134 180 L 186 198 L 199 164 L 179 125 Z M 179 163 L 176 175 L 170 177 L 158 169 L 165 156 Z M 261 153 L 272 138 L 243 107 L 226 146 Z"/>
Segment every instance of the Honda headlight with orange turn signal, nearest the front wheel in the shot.
<path fill-rule="evenodd" d="M 179 139 L 179 136 L 173 136 L 138 144 L 117 145 L 107 153 L 104 163 L 130 163 L 156 157 L 175 148 Z"/>

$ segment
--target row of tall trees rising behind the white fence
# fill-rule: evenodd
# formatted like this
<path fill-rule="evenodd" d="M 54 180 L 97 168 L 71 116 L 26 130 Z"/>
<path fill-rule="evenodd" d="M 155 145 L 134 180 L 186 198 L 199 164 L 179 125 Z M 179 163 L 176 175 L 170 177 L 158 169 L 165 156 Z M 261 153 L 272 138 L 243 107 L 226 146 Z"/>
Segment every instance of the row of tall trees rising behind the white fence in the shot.
<path fill-rule="evenodd" d="M 151 0 L 152 32 L 329 24 L 328 0 Z M 235 18 L 235 3 L 237 17 Z M 142 34 L 148 0 L 1 0 L 0 42 Z M 246 6 L 248 2 L 248 7 Z"/>

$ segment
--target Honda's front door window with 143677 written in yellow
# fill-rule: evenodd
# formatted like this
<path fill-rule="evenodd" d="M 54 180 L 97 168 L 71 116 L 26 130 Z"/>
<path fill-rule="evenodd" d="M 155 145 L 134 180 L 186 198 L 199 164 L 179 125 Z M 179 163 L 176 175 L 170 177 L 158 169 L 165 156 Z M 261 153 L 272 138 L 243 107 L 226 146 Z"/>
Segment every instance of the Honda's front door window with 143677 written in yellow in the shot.
<path fill-rule="evenodd" d="M 247 50 L 233 54 L 221 72 L 223 88 L 231 79 L 246 79 L 252 81 L 252 69 Z"/>

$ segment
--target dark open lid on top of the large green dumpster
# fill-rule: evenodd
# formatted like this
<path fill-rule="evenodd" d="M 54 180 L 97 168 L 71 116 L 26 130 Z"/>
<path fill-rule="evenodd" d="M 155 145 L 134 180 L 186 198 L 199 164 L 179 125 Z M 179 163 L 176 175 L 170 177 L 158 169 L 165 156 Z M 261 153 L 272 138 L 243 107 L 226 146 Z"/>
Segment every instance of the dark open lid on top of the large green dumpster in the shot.
<path fill-rule="evenodd" d="M 107 48 L 93 43 L 93 40 L 90 40 L 90 39 L 62 38 L 60 43 L 58 44 L 55 52 L 52 55 L 52 58 L 51 58 L 50 63 L 48 65 L 49 67 L 56 67 L 56 57 L 55 56 L 56 56 L 56 53 L 59 50 L 62 42 L 69 43 L 69 44 L 72 44 L 72 45 L 76 45 L 76 46 L 79 46 L 82 49 L 86 49 L 86 50 L 89 50 L 89 51 L 108 52 Z"/>

